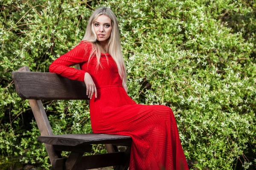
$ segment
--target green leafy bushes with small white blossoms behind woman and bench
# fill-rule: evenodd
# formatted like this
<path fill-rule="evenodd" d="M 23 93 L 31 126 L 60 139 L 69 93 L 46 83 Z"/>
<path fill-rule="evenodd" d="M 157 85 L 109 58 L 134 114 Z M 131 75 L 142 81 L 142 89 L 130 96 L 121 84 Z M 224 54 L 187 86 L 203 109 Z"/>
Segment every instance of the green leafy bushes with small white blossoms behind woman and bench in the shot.
<path fill-rule="evenodd" d="M 255 0 L 0 0 L 0 165 L 50 168 L 11 72 L 23 65 L 48 72 L 99 6 L 119 21 L 128 95 L 173 109 L 189 167 L 255 169 Z M 92 132 L 85 101 L 44 107 L 55 134 Z"/>

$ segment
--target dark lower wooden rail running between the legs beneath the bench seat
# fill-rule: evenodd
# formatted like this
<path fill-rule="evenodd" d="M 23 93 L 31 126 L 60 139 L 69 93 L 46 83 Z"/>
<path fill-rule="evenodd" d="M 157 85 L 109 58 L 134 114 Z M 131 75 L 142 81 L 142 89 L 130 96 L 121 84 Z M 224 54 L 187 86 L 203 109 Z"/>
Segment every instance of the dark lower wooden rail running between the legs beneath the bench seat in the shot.
<path fill-rule="evenodd" d="M 99 167 L 110 167 L 121 164 L 124 152 L 105 153 L 100 155 L 83 156 L 78 163 L 76 170 L 88 170 Z M 64 162 L 67 158 L 55 159 L 52 164 L 53 170 L 64 168 Z"/>

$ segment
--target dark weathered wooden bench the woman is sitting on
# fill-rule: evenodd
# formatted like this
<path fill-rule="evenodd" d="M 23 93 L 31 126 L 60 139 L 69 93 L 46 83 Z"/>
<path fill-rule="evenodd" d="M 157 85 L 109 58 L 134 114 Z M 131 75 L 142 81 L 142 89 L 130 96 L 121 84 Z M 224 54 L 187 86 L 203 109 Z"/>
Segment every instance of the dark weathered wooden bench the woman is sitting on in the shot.
<path fill-rule="evenodd" d="M 17 94 L 28 99 L 35 116 L 52 170 L 86 170 L 113 166 L 115 170 L 127 170 L 131 153 L 131 137 L 110 134 L 63 134 L 54 135 L 41 99 L 67 100 L 85 99 L 84 82 L 74 81 L 54 73 L 30 72 L 27 66 L 12 72 Z M 83 156 L 92 150 L 92 144 L 105 144 L 108 153 Z M 116 146 L 127 146 L 119 152 Z M 68 158 L 62 158 L 61 151 L 70 151 Z"/>

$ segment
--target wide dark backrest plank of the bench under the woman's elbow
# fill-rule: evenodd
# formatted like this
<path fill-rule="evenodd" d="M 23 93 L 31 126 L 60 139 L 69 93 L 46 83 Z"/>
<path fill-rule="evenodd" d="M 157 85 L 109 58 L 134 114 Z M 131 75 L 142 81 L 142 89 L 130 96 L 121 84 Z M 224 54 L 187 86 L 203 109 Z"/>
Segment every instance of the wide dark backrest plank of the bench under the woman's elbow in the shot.
<path fill-rule="evenodd" d="M 22 99 L 86 99 L 86 86 L 55 73 L 13 71 L 17 94 Z"/>

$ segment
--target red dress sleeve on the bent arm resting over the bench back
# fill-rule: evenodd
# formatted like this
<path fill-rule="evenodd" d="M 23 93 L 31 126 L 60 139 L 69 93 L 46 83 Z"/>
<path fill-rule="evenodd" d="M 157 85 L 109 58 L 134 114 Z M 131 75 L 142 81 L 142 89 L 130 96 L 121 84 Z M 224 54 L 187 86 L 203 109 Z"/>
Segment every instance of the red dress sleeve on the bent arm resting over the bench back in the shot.
<path fill-rule="evenodd" d="M 86 71 L 78 70 L 70 66 L 87 62 L 90 51 L 91 44 L 89 42 L 80 42 L 75 48 L 53 61 L 49 66 L 49 72 L 83 82 Z"/>

